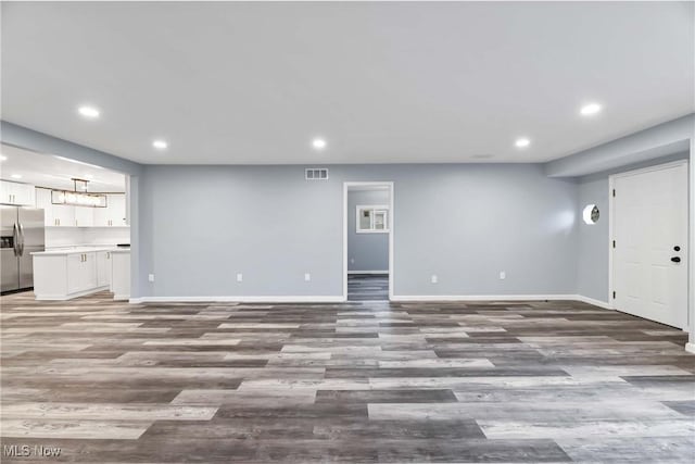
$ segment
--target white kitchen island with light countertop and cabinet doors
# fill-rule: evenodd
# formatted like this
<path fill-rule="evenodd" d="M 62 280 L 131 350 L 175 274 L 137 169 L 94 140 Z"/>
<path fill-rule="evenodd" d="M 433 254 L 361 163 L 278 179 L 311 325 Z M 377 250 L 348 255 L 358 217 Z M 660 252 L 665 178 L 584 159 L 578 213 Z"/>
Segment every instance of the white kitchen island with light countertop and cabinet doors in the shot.
<path fill-rule="evenodd" d="M 119 256 L 116 274 L 115 254 Z M 34 252 L 31 255 L 37 300 L 70 300 L 102 290 L 114 291 L 114 299 L 129 297 L 129 248 L 73 247 Z M 117 291 L 112 288 L 114 279 L 118 285 Z"/>

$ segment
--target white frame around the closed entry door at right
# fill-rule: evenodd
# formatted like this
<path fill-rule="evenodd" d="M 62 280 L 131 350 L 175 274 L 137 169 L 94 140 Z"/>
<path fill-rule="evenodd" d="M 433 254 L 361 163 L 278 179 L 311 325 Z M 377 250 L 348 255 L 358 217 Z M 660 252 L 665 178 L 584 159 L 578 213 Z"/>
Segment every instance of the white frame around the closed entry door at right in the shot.
<path fill-rule="evenodd" d="M 624 173 L 617 173 L 617 174 L 611 174 L 608 176 L 608 305 L 611 309 L 616 309 L 615 304 L 614 304 L 614 298 L 612 298 L 612 285 L 614 285 L 614 272 L 615 272 L 615 265 L 614 265 L 614 253 L 615 253 L 615 249 L 612 248 L 612 241 L 615 240 L 615 236 L 614 236 L 614 222 L 615 222 L 615 197 L 612 196 L 612 190 L 615 188 L 616 185 L 616 179 L 619 177 L 630 177 L 630 176 L 635 176 L 635 175 L 640 175 L 640 174 L 646 174 L 646 173 L 652 173 L 654 171 L 664 171 L 664 170 L 669 170 L 671 167 L 679 167 L 688 165 L 688 160 L 677 160 L 677 161 L 671 161 L 669 163 L 664 163 L 664 164 L 656 164 L 654 166 L 648 166 L 648 167 L 642 167 L 639 170 L 632 170 L 632 171 L 626 171 Z M 692 190 L 692 186 L 690 185 L 690 177 L 687 178 L 687 191 L 690 192 Z M 690 195 L 686 196 L 685 198 L 685 210 L 687 211 L 687 224 L 690 226 L 691 223 L 691 208 L 690 208 Z M 688 247 L 688 252 L 691 247 L 693 247 L 693 244 L 695 243 L 691 243 L 690 242 L 690 235 L 685 237 L 686 242 L 687 242 L 687 247 Z M 692 286 L 692 276 L 694 274 L 693 269 L 694 269 L 694 263 L 688 259 L 687 260 L 687 276 L 688 276 L 688 285 L 687 285 L 687 301 L 690 301 L 690 296 L 693 293 L 693 291 L 695 291 L 695 289 L 693 289 Z M 691 309 L 686 308 L 685 309 L 686 313 L 687 313 L 687 323 L 685 325 L 685 327 L 683 328 L 684 331 L 688 331 L 688 327 L 691 324 Z"/>

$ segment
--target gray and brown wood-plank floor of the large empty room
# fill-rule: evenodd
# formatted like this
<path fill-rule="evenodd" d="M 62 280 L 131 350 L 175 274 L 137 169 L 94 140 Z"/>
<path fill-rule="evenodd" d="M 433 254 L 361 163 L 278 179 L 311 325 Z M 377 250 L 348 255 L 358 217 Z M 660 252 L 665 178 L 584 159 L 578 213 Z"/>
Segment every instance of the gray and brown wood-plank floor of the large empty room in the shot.
<path fill-rule="evenodd" d="M 685 335 L 618 312 L 577 302 L 109 297 L 2 297 L 2 462 L 695 455 Z M 29 455 L 10 456 L 11 446 Z M 39 456 L 35 446 L 60 455 Z"/>

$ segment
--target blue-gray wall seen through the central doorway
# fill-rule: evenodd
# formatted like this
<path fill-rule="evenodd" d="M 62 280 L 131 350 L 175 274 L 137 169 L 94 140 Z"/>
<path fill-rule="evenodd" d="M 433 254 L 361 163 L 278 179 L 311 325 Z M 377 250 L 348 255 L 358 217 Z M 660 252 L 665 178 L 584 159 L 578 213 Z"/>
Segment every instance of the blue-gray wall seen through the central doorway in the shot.
<path fill-rule="evenodd" d="M 357 234 L 357 205 L 389 204 L 388 190 L 348 192 L 348 271 L 388 271 L 389 234 Z"/>

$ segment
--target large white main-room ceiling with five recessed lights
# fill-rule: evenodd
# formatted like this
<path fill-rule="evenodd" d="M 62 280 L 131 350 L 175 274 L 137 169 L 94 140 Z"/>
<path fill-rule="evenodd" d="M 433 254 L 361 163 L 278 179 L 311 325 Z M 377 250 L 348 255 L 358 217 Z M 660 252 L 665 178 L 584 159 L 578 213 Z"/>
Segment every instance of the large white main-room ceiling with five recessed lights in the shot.
<path fill-rule="evenodd" d="M 142 163 L 536 162 L 695 111 L 693 2 L 1 8 L 3 120 Z"/>

